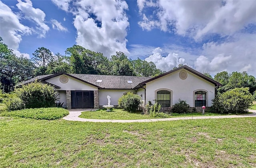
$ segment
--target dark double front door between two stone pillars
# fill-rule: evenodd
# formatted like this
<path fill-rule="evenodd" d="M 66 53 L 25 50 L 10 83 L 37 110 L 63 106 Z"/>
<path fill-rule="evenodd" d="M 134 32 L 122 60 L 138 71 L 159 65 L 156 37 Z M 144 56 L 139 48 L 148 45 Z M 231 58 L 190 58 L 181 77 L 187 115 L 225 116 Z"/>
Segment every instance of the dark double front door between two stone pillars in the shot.
<path fill-rule="evenodd" d="M 71 91 L 71 108 L 94 108 L 93 91 Z"/>

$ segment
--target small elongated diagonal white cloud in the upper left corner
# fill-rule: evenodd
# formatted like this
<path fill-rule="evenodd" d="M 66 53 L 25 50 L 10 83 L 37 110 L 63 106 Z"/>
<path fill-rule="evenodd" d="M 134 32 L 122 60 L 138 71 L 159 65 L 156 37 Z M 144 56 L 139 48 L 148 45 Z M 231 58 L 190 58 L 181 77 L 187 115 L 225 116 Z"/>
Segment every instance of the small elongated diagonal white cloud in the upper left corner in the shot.
<path fill-rule="evenodd" d="M 30 0 L 25 1 L 18 0 L 16 6 L 22 11 L 26 19 L 32 20 L 37 24 L 36 33 L 39 34 L 39 37 L 45 37 L 46 32 L 50 30 L 49 26 L 44 23 L 45 13 L 38 8 L 33 8 Z"/>

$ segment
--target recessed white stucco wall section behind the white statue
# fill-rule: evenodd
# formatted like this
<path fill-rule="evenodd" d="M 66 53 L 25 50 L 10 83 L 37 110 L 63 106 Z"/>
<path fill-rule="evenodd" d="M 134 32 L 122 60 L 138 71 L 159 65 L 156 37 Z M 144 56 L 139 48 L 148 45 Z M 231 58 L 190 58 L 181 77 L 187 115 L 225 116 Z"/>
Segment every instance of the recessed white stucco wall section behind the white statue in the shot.
<path fill-rule="evenodd" d="M 99 97 L 100 97 L 100 106 L 108 105 L 107 96 L 109 95 L 110 98 L 110 105 L 117 106 L 118 99 L 123 96 L 125 92 L 134 92 L 136 90 L 99 90 Z"/>

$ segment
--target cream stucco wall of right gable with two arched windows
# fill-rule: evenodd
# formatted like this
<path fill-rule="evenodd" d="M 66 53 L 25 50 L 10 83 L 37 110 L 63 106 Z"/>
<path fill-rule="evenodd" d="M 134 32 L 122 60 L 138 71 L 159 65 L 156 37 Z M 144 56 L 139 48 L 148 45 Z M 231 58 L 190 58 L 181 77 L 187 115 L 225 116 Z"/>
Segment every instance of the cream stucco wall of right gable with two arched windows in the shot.
<path fill-rule="evenodd" d="M 181 69 L 185 70 L 185 69 Z M 206 106 L 212 106 L 212 99 L 214 98 L 214 84 L 196 76 L 195 74 L 187 72 L 185 80 L 180 79 L 179 73 L 181 70 L 148 82 L 146 84 L 146 102 L 156 99 L 156 90 L 170 90 L 171 91 L 171 105 L 178 102 L 178 99 L 186 100 L 186 102 L 194 107 L 194 94 L 196 90 L 206 90 Z M 152 102 L 154 103 L 154 102 Z"/>

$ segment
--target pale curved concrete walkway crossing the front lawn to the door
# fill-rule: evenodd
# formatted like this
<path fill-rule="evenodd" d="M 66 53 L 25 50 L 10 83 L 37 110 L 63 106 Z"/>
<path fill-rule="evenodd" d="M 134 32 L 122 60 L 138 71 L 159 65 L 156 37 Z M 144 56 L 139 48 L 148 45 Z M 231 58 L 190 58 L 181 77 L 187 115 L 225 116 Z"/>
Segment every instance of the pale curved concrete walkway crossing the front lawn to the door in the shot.
<path fill-rule="evenodd" d="M 256 110 L 249 110 L 252 114 L 241 114 L 241 115 L 228 115 L 228 116 L 192 116 L 192 117 L 175 117 L 175 118 L 154 118 L 154 119 L 140 119 L 140 120 L 101 120 L 101 119 L 87 119 L 79 118 L 85 111 L 91 111 L 97 109 L 78 109 L 69 110 L 69 114 L 63 117 L 64 120 L 68 121 L 81 121 L 81 122 L 156 122 L 156 121 L 175 121 L 175 120 L 195 120 L 195 119 L 213 119 L 213 118 L 245 118 L 245 117 L 256 117 Z"/>

